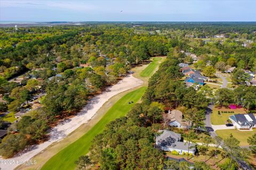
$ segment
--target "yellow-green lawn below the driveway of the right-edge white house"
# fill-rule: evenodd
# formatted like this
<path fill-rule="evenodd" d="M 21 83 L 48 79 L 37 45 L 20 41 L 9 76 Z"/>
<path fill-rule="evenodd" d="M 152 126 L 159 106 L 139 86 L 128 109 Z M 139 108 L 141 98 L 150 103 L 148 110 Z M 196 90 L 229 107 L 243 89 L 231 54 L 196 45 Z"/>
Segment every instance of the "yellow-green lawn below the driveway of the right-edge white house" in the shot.
<path fill-rule="evenodd" d="M 216 133 L 218 136 L 220 136 L 223 139 L 226 139 L 229 137 L 230 133 L 240 141 L 240 146 L 248 146 L 247 139 L 251 137 L 254 133 L 256 133 L 256 130 L 253 131 L 238 131 L 236 129 L 228 129 L 228 130 L 217 130 Z"/>

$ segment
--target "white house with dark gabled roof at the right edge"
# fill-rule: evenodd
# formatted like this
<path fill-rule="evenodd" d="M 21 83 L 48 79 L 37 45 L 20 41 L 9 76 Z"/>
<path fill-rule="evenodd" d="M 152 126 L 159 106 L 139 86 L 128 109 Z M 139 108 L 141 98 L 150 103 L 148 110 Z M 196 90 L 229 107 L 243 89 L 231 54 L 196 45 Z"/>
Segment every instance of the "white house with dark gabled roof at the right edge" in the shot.
<path fill-rule="evenodd" d="M 252 113 L 231 115 L 229 120 L 237 129 L 251 130 L 256 128 L 256 119 Z"/>

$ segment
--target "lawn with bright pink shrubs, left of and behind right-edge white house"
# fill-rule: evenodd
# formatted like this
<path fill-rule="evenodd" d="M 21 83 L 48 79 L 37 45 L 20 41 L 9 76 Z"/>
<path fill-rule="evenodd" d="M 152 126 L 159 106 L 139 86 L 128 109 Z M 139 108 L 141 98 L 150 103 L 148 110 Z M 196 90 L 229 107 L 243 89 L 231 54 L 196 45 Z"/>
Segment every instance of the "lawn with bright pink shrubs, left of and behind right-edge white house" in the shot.
<path fill-rule="evenodd" d="M 218 114 L 218 111 L 220 111 L 220 115 Z M 234 113 L 221 113 L 221 111 L 227 111 L 227 112 L 234 112 Z M 228 108 L 217 108 L 214 107 L 212 114 L 211 114 L 211 123 L 213 125 L 220 125 L 225 124 L 226 121 L 229 119 L 229 116 L 234 114 L 241 114 L 246 113 L 246 111 L 243 108 L 239 109 L 228 109 Z"/>

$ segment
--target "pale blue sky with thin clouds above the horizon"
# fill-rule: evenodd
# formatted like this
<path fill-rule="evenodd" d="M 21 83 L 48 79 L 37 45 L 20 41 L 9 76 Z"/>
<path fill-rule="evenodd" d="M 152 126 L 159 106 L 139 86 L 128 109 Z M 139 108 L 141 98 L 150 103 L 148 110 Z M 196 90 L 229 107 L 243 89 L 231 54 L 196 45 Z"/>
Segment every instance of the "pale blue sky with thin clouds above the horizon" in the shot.
<path fill-rule="evenodd" d="M 0 0 L 0 21 L 256 21 L 255 8 L 255 0 Z"/>

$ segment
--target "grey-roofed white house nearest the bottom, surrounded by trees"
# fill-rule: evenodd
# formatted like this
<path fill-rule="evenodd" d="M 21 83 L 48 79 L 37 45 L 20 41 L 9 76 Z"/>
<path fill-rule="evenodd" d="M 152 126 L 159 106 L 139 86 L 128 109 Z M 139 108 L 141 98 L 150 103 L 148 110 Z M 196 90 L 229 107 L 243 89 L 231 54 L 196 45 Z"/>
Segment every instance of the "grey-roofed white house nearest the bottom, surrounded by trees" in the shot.
<path fill-rule="evenodd" d="M 195 145 L 190 143 L 188 147 L 188 143 L 182 142 L 181 134 L 169 130 L 159 130 L 158 132 L 162 132 L 162 134 L 156 137 L 156 148 L 164 151 L 175 150 L 179 154 L 183 154 L 183 152 L 195 154 Z"/>

